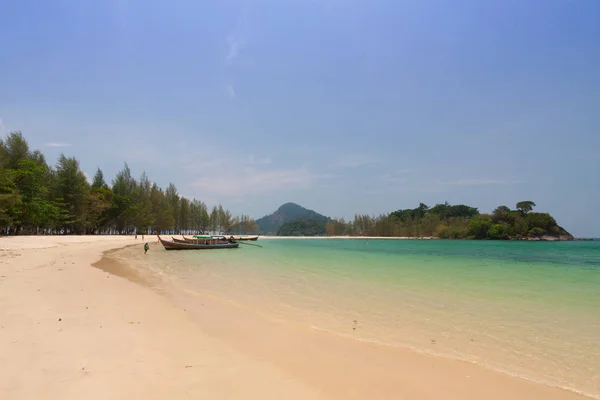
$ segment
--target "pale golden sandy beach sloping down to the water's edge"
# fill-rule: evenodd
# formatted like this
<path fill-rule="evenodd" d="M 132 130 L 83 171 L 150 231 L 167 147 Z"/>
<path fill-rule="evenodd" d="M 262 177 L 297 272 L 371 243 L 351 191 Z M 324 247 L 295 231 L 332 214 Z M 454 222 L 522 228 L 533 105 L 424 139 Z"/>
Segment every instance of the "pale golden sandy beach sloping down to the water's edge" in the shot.
<path fill-rule="evenodd" d="M 185 295 L 147 288 L 110 256 L 91 267 L 135 243 L 142 251 L 131 236 L 0 238 L 1 399 L 583 398 L 210 297 L 184 310 Z"/>

